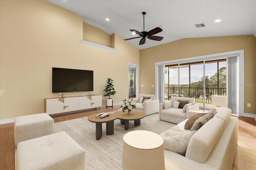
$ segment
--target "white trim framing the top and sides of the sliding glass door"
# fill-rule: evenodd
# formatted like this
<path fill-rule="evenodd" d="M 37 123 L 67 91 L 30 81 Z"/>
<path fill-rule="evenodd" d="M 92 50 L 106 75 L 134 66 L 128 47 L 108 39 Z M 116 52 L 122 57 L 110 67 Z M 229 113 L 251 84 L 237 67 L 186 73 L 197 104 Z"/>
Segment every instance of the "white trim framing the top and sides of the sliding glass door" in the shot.
<path fill-rule="evenodd" d="M 171 64 L 182 64 L 182 63 L 192 63 L 192 62 L 198 62 L 202 60 L 216 60 L 216 59 L 223 59 L 228 57 L 238 57 L 239 61 L 239 113 L 240 116 L 244 115 L 244 50 L 237 50 L 237 51 L 228 51 L 224 53 L 216 53 L 216 54 L 210 54 L 210 55 L 202 55 L 197 57 L 190 57 L 185 59 L 176 59 L 176 60 L 170 60 L 170 61 L 162 61 L 155 63 L 155 84 L 158 84 L 158 66 L 163 65 L 171 65 Z M 156 96 L 159 96 L 158 94 L 158 86 L 155 88 L 155 94 Z M 247 113 L 248 114 L 248 113 Z"/>

